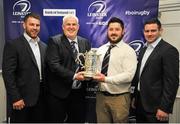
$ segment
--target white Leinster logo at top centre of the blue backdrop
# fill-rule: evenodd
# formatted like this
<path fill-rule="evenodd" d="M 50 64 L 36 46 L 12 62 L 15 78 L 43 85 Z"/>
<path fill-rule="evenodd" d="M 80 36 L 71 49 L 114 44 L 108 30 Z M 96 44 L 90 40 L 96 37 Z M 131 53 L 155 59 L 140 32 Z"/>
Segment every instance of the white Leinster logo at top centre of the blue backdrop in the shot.
<path fill-rule="evenodd" d="M 106 13 L 106 3 L 104 1 L 98 0 L 91 3 L 88 7 L 88 17 L 103 18 L 107 16 Z"/>

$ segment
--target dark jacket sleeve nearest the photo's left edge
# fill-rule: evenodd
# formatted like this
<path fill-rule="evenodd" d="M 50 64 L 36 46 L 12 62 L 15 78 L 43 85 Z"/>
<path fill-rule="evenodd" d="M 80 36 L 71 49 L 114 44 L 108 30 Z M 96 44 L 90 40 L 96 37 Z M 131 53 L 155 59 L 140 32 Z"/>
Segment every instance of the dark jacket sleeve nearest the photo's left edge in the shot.
<path fill-rule="evenodd" d="M 18 54 L 11 43 L 6 43 L 3 53 L 2 74 L 7 95 L 12 102 L 21 99 L 16 82 L 16 71 L 18 66 Z"/>

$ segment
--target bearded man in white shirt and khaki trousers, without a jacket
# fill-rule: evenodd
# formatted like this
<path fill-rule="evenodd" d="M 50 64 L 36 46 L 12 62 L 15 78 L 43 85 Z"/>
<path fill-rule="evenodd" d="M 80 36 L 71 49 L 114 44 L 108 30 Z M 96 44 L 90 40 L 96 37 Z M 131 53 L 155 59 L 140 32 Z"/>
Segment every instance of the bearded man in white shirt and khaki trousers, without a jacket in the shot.
<path fill-rule="evenodd" d="M 108 43 L 101 46 L 101 72 L 94 76 L 99 83 L 96 96 L 98 123 L 128 122 L 130 86 L 137 65 L 135 51 L 123 41 L 124 23 L 117 17 L 108 22 Z"/>

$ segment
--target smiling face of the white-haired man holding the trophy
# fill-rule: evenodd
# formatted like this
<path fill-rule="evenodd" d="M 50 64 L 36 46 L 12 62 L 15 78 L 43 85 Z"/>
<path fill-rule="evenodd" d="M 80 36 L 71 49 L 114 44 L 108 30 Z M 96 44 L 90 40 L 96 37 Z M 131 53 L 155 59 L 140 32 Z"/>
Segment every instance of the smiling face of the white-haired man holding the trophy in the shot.
<path fill-rule="evenodd" d="M 69 17 L 63 22 L 62 29 L 67 38 L 74 40 L 79 30 L 79 24 L 76 18 Z"/>

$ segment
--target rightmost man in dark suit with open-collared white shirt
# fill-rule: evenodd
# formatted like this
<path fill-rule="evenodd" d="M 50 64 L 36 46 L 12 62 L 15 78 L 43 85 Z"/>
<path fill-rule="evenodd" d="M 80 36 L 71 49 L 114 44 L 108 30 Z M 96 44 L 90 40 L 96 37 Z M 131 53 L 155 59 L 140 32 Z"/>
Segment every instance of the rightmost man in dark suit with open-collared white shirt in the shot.
<path fill-rule="evenodd" d="M 140 51 L 133 80 L 138 123 L 166 123 L 173 110 L 179 86 L 179 53 L 161 38 L 161 33 L 158 19 L 145 22 L 147 43 Z"/>

